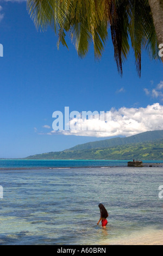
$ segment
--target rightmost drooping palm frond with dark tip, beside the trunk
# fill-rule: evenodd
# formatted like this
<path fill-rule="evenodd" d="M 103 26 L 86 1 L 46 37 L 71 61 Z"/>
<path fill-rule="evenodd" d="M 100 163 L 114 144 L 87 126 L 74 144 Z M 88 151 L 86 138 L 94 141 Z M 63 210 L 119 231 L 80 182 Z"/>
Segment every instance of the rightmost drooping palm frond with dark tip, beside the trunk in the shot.
<path fill-rule="evenodd" d="M 149 57 L 157 58 L 158 42 L 148 1 L 130 0 L 129 10 L 130 38 L 135 53 L 136 69 L 140 76 L 142 51 L 146 49 Z"/>

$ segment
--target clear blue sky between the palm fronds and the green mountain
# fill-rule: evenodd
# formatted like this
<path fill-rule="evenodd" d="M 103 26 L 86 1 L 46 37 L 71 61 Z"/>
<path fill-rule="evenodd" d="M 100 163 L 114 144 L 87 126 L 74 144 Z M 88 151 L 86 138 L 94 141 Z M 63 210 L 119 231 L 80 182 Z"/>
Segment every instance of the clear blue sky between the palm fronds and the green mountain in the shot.
<path fill-rule="evenodd" d="M 162 119 L 158 121 L 159 115 L 156 116 L 163 114 L 161 62 L 149 60 L 143 52 L 139 78 L 131 50 L 121 77 L 114 61 L 111 38 L 99 62 L 95 62 L 93 48 L 80 59 L 68 38 L 69 51 L 62 46 L 58 51 L 57 36 L 51 29 L 44 33 L 36 31 L 27 13 L 26 2 L 0 1 L 0 6 L 0 44 L 3 45 L 3 57 L 0 57 L 0 158 L 60 151 L 111 136 L 162 129 Z M 153 105 L 155 103 L 158 104 Z M 119 126 L 122 124 L 121 130 L 112 130 L 105 134 L 106 137 L 97 136 L 97 133 L 90 133 L 90 136 L 86 133 L 86 136 L 84 133 L 53 133 L 52 113 L 64 113 L 65 106 L 70 107 L 70 112 L 114 109 L 117 119 L 124 111 L 129 120 L 134 111 L 141 120 L 146 119 L 146 123 L 138 122 L 137 130 L 132 130 L 134 125 L 127 127 L 126 123 L 118 123 Z M 156 114 L 153 109 L 157 109 Z M 131 130 L 133 133 L 128 132 Z"/>

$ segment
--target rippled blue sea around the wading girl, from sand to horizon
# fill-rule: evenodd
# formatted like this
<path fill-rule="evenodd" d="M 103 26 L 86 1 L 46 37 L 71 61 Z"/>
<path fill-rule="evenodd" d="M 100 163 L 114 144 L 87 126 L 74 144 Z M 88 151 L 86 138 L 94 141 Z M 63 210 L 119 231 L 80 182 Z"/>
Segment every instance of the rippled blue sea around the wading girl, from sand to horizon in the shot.
<path fill-rule="evenodd" d="M 0 160 L 0 245 L 99 245 L 163 229 L 162 167 L 14 161 Z M 109 213 L 106 230 L 97 225 L 99 203 Z"/>

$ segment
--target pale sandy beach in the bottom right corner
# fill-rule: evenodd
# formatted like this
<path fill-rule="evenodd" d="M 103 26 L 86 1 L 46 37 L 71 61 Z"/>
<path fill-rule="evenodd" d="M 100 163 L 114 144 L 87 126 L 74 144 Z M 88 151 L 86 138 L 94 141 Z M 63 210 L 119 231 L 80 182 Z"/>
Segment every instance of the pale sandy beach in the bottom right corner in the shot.
<path fill-rule="evenodd" d="M 105 245 L 163 245 L 163 230 L 135 231 L 123 238 L 108 240 Z"/>

